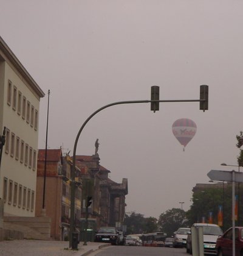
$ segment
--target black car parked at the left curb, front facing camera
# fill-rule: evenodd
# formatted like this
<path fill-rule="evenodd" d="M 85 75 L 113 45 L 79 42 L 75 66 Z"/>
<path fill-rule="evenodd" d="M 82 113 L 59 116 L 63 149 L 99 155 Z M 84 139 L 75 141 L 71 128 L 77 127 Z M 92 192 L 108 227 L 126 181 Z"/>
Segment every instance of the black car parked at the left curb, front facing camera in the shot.
<path fill-rule="evenodd" d="M 118 231 L 115 227 L 100 227 L 95 234 L 95 242 L 118 244 Z"/>

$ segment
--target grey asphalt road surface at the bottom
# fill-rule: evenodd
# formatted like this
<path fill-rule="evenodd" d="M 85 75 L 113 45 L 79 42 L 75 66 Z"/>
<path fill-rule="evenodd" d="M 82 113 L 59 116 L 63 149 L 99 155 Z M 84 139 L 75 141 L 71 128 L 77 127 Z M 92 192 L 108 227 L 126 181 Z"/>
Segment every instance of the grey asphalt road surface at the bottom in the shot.
<path fill-rule="evenodd" d="M 145 247 L 145 246 L 110 246 L 100 249 L 90 256 L 178 256 L 189 255 L 185 248 L 168 248 L 168 247 Z"/>

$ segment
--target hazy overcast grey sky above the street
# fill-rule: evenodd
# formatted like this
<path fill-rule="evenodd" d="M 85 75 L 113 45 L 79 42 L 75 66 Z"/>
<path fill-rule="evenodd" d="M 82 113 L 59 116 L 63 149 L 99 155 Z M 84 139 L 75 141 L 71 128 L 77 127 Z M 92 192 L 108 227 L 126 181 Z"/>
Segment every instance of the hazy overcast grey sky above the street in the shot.
<path fill-rule="evenodd" d="M 199 99 L 209 86 L 209 110 L 198 102 L 118 105 L 91 119 L 77 154 L 94 154 L 111 179 L 128 178 L 126 212 L 159 217 L 208 182 L 210 169 L 237 164 L 242 127 L 243 2 L 238 0 L 0 0 L 0 35 L 46 93 L 39 148 L 45 147 L 50 89 L 50 148 L 72 150 L 86 118 L 116 101 Z M 197 133 L 183 147 L 171 126 L 190 118 Z"/>

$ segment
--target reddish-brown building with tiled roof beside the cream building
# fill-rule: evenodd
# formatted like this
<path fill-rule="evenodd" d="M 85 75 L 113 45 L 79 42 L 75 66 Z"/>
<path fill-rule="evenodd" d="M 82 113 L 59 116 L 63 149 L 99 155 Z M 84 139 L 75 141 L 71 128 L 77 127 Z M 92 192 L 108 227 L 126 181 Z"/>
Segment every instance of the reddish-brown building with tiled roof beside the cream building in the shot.
<path fill-rule="evenodd" d="M 69 235 L 70 214 L 70 178 L 72 159 L 63 157 L 61 149 L 39 149 L 36 186 L 36 216 L 43 215 L 44 169 L 46 159 L 46 193 L 44 209 L 51 218 L 50 237 L 55 240 L 67 240 Z M 81 172 L 76 169 L 75 224 L 79 226 L 81 218 Z"/>

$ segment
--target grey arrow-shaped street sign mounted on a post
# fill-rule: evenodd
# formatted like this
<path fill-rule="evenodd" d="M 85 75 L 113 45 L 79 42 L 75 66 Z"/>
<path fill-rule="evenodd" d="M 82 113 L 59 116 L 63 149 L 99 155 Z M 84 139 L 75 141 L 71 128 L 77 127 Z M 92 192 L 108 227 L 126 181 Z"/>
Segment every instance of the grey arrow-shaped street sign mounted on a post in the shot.
<path fill-rule="evenodd" d="M 211 180 L 232 182 L 232 172 L 234 172 L 234 182 L 243 182 L 243 172 L 211 170 L 207 176 Z"/>

